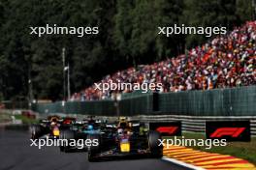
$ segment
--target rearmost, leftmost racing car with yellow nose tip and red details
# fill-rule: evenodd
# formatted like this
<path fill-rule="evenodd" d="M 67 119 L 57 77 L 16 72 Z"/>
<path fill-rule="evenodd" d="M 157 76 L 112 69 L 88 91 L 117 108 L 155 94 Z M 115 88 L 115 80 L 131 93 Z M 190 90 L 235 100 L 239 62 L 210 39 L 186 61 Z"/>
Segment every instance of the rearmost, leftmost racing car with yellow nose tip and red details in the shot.
<path fill-rule="evenodd" d="M 60 128 L 69 128 L 75 120 L 75 118 L 61 119 L 58 116 L 48 116 L 48 119 L 40 120 L 39 124 L 30 127 L 31 138 L 38 139 L 46 135 L 49 138 L 58 138 Z"/>

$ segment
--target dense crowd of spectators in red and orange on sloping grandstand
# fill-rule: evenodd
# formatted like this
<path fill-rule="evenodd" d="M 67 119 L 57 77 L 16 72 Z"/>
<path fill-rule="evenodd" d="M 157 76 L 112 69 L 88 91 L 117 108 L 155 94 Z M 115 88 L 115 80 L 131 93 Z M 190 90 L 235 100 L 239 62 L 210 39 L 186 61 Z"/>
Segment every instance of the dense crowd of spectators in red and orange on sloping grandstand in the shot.
<path fill-rule="evenodd" d="M 256 21 L 192 48 L 184 55 L 152 65 L 117 71 L 100 83 L 162 83 L 162 93 L 232 88 L 256 84 Z M 118 93 L 128 93 L 122 91 Z M 114 93 L 113 93 L 114 94 Z M 112 92 L 86 88 L 72 99 L 111 98 Z"/>

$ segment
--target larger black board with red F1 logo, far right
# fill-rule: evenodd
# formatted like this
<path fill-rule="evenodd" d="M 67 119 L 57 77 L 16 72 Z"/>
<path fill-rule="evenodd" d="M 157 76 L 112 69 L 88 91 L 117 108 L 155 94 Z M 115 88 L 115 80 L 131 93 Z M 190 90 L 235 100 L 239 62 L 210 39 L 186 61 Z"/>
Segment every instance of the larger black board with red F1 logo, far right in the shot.
<path fill-rule="evenodd" d="M 227 141 L 250 141 L 250 122 L 207 122 L 206 135 L 208 139 L 227 139 Z"/>

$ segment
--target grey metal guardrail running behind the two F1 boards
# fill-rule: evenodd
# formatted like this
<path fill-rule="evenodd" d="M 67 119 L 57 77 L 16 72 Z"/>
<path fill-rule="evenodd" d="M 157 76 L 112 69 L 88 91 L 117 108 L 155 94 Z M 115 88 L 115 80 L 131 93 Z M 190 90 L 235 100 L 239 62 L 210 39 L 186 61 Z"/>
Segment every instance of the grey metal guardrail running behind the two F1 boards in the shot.
<path fill-rule="evenodd" d="M 205 132 L 207 121 L 250 121 L 251 135 L 256 136 L 256 116 L 182 116 L 182 115 L 141 115 L 132 120 L 144 122 L 181 122 L 182 131 Z"/>

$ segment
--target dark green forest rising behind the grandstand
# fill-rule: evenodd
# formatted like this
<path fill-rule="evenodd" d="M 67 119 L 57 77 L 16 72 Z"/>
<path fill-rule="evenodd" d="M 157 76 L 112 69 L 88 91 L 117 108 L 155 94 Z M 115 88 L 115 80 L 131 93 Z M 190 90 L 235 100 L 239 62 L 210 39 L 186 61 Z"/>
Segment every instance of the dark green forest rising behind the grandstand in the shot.
<path fill-rule="evenodd" d="M 62 48 L 72 93 L 104 75 L 184 53 L 204 36 L 158 36 L 158 26 L 185 23 L 232 29 L 253 17 L 250 0 L 0 0 L 0 92 L 27 97 L 29 79 L 39 99 L 62 99 Z M 99 35 L 29 35 L 30 26 L 98 26 Z"/>

